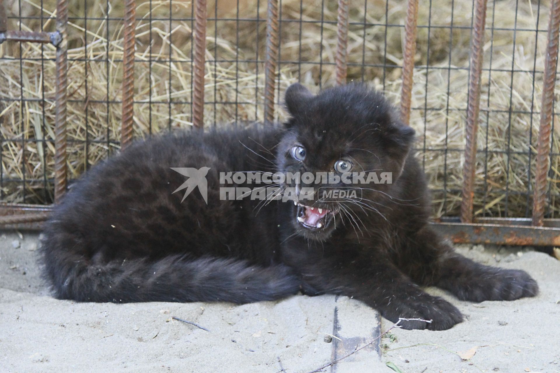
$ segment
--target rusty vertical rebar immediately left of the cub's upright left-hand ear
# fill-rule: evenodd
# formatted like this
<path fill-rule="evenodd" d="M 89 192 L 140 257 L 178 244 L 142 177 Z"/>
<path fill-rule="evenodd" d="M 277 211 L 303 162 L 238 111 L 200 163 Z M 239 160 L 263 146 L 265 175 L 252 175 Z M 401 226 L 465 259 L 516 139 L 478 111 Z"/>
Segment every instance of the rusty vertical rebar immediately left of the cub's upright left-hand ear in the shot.
<path fill-rule="evenodd" d="M 274 81 L 278 62 L 278 0 L 268 0 L 267 46 L 264 64 L 264 122 L 274 120 Z"/>

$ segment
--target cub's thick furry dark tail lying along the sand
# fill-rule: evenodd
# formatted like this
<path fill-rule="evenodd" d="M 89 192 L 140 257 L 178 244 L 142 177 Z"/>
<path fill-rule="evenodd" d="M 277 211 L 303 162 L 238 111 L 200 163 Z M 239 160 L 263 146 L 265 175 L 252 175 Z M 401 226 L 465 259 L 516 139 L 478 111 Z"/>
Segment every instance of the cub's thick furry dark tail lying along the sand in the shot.
<path fill-rule="evenodd" d="M 156 261 L 101 262 L 49 251 L 46 243 L 43 260 L 45 276 L 58 299 L 250 303 L 281 299 L 300 290 L 298 278 L 286 266 L 258 267 L 236 259 L 169 256 Z"/>

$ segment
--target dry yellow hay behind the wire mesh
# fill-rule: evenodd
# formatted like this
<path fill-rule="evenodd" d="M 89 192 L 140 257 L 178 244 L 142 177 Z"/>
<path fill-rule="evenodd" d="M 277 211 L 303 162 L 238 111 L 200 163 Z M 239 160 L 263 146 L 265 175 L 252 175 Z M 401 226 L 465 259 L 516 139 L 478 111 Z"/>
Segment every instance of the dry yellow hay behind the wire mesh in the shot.
<path fill-rule="evenodd" d="M 44 17 L 53 15 L 54 3 L 54 0 L 44 0 Z M 78 177 L 89 165 L 99 162 L 119 148 L 122 21 L 111 20 L 107 25 L 102 19 L 106 16 L 106 3 L 87 3 L 87 0 L 69 0 L 69 16 L 81 18 L 72 18 L 68 25 L 68 92 L 71 100 L 68 103 L 69 178 Z M 110 17 L 122 17 L 122 3 L 110 3 Z M 22 4 L 23 16 L 41 14 L 39 0 L 22 0 Z M 301 4 L 303 12 L 300 12 Z M 363 74 L 365 81 L 371 82 L 378 89 L 384 88 L 386 95 L 398 103 L 401 70 L 394 67 L 384 69 L 382 64 L 402 64 L 402 25 L 406 1 L 389 1 L 387 21 L 394 26 L 388 27 L 386 32 L 385 1 L 368 0 L 366 11 L 364 5 L 363 2 L 354 3 L 356 7 L 351 10 L 348 77 L 362 79 Z M 497 70 L 492 71 L 491 78 L 487 70 L 482 75 L 482 111 L 474 202 L 477 215 L 503 216 L 506 204 L 510 216 L 526 216 L 531 209 L 539 117 L 538 114 L 531 117 L 530 114 L 510 112 L 510 106 L 513 111 L 539 111 L 542 73 L 533 75 L 533 69 L 538 72 L 544 69 L 546 32 L 539 32 L 535 40 L 534 31 L 519 31 L 535 29 L 538 8 L 536 2 L 519 1 L 515 17 L 515 5 L 514 0 L 489 2 L 488 5 L 484 68 L 489 67 L 492 59 L 492 69 Z M 8 0 L 7 6 L 8 13 L 17 15 L 17 1 L 10 3 Z M 451 6 L 454 7 L 453 17 Z M 136 59 L 139 62 L 136 63 L 134 97 L 136 138 L 150 132 L 192 125 L 189 103 L 192 97 L 192 22 L 186 19 L 190 17 L 191 7 L 190 2 L 172 1 L 174 20 L 170 22 L 159 19 L 169 17 L 169 1 L 152 0 L 151 12 L 149 1 L 137 1 Z M 217 15 L 229 20 L 208 22 L 206 101 L 211 103 L 205 107 L 207 126 L 214 123 L 231 125 L 236 121 L 242 125 L 243 121 L 262 120 L 266 3 L 260 1 L 259 12 L 256 8 L 254 0 L 240 0 L 241 20 L 237 22 L 232 19 L 237 16 L 236 2 L 218 0 L 217 10 L 214 10 L 214 2 L 209 4 L 209 17 Z M 549 1 L 540 2 L 540 30 L 547 28 L 548 9 Z M 283 63 L 280 68 L 277 84 L 279 92 L 282 93 L 298 79 L 311 88 L 318 87 L 319 84 L 334 84 L 336 12 L 335 1 L 325 1 L 323 12 L 320 0 L 282 2 L 283 20 L 298 21 L 301 17 L 305 22 L 301 26 L 301 43 L 300 24 L 282 22 L 281 58 L 288 63 Z M 84 29 L 84 16 L 88 17 L 87 32 Z M 258 23 L 246 20 L 257 16 L 260 18 Z M 92 17 L 97 19 L 91 19 Z M 323 30 L 320 26 L 321 19 L 325 21 Z M 430 29 L 422 27 L 428 25 L 428 20 Z M 435 212 L 438 216 L 458 214 L 464 162 L 460 150 L 464 148 L 469 67 L 470 31 L 466 27 L 470 27 L 471 21 L 471 2 L 442 0 L 433 4 L 431 12 L 427 3 L 422 3 L 419 10 L 417 69 L 414 71 L 412 97 L 413 107 L 417 110 L 413 110 L 410 121 L 418 131 L 418 158 L 422 160 L 430 185 L 435 190 Z M 352 22 L 366 22 L 367 25 Z M 449 27 L 451 22 L 455 26 L 452 31 Z M 514 32 L 494 30 L 492 34 L 492 25 L 495 29 L 517 27 L 515 54 L 512 53 Z M 11 20 L 11 28 L 16 27 L 16 20 Z M 23 30 L 39 30 L 40 27 L 38 19 L 22 22 Z M 53 27 L 54 21 L 49 20 L 45 22 L 44 30 L 52 31 Z M 214 30 L 217 30 L 216 34 Z M 43 62 L 40 60 L 41 53 L 44 55 Z M 36 60 L 24 60 L 20 76 L 19 45 L 4 43 L 0 46 L 0 56 L 3 57 L 0 60 L 1 97 L 18 100 L 21 90 L 24 98 L 34 100 L 26 101 L 24 105 L 20 101 L 0 101 L 2 136 L 8 139 L 2 145 L 3 199 L 24 201 L 22 183 L 10 180 L 20 180 L 25 175 L 28 180 L 25 202 L 50 202 L 54 166 L 54 48 L 51 45 L 41 48 L 40 45 L 24 43 L 21 55 L 26 59 Z M 256 56 L 258 64 L 255 63 Z M 84 62 L 86 57 L 89 60 L 87 64 Z M 218 62 L 214 60 L 215 57 Z M 150 64 L 147 63 L 149 59 L 152 60 L 151 74 Z M 302 64 L 297 64 L 297 61 Z M 320 65 L 320 62 L 323 64 Z M 371 65 L 362 67 L 362 62 Z M 44 75 L 41 75 L 41 64 L 44 65 Z M 429 65 L 428 69 L 426 64 Z M 512 66 L 519 71 L 514 74 L 513 89 L 510 88 L 512 74 L 508 71 Z M 43 86 L 44 106 L 41 92 Z M 557 92 L 558 89 L 560 88 L 557 88 Z M 109 103 L 106 103 L 108 98 Z M 168 103 L 169 98 L 171 105 Z M 218 103 L 214 105 L 214 101 Z M 278 107 L 277 115 L 279 120 L 283 119 L 281 107 Z M 510 122 L 511 126 L 508 126 Z M 89 141 L 87 147 L 86 139 Z M 25 143 L 25 148 L 22 143 Z M 422 150 L 424 145 L 426 152 Z M 554 136 L 553 153 L 558 153 L 558 145 L 558 139 Z M 484 149 L 489 150 L 488 154 Z M 556 211 L 556 179 L 560 178 L 556 176 L 557 157 L 553 157 L 552 163 L 550 211 Z M 43 182 L 44 176 L 48 178 L 46 185 Z M 30 179 L 39 181 L 29 182 Z M 445 195 L 441 192 L 444 188 L 447 190 Z M 507 199 L 504 193 L 506 188 Z"/>

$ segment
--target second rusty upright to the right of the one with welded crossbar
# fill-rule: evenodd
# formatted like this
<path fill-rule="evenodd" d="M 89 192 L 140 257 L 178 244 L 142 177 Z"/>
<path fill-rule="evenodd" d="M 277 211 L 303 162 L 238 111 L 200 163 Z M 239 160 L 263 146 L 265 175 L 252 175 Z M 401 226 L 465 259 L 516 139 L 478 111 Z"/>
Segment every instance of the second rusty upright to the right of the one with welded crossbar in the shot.
<path fill-rule="evenodd" d="M 204 64 L 206 64 L 206 0 L 194 3 L 193 125 L 204 127 Z"/>

